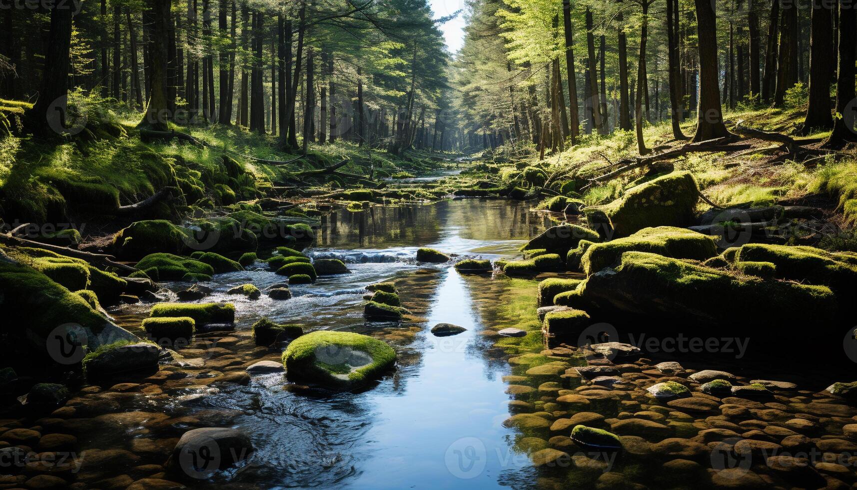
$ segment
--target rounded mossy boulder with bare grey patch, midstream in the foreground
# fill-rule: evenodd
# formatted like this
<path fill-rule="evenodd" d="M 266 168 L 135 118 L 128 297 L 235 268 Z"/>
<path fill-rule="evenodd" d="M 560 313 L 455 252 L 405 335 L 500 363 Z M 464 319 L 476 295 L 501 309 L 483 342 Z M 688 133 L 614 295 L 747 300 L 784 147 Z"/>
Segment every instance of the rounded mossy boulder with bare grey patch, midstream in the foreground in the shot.
<path fill-rule="evenodd" d="M 396 362 L 396 352 L 378 339 L 351 332 L 319 330 L 298 337 L 283 353 L 291 381 L 328 387 L 362 388 Z"/>

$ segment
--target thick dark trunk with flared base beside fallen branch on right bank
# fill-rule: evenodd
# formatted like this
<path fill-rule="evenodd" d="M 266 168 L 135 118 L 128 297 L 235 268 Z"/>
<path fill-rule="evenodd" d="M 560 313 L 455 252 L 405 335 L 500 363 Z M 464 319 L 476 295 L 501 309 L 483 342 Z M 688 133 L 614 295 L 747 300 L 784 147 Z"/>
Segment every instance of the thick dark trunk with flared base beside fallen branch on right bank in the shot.
<path fill-rule="evenodd" d="M 714 5 L 709 0 L 694 0 L 699 39 L 699 105 L 694 142 L 728 136 L 717 92 L 717 31 Z"/>

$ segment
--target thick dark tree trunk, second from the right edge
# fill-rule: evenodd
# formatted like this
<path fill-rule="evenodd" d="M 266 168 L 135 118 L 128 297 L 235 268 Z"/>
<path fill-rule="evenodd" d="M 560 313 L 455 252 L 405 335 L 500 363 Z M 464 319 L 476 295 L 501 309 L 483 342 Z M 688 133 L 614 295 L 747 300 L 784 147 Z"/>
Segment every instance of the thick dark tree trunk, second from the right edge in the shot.
<path fill-rule="evenodd" d="M 833 15 L 824 0 L 812 0 L 812 34 L 809 59 L 809 106 L 801 129 L 809 134 L 813 129 L 830 129 L 830 52 L 833 51 L 833 35 L 830 25 Z"/>

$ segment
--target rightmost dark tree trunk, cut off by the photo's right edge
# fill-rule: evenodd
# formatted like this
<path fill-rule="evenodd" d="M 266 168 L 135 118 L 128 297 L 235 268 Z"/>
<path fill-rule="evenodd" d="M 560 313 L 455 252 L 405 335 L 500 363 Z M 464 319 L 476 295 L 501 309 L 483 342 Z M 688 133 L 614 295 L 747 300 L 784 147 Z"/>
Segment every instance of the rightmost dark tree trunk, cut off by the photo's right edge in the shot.
<path fill-rule="evenodd" d="M 854 134 L 854 116 L 848 104 L 854 100 L 854 45 L 857 45 L 857 17 L 854 0 L 839 0 L 839 70 L 836 76 L 836 113 L 842 115 L 833 122 L 833 131 L 826 147 L 836 148 L 844 142 L 857 141 Z"/>

